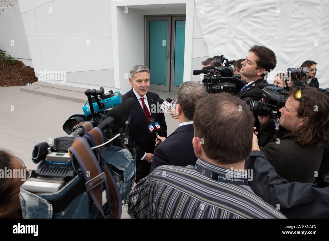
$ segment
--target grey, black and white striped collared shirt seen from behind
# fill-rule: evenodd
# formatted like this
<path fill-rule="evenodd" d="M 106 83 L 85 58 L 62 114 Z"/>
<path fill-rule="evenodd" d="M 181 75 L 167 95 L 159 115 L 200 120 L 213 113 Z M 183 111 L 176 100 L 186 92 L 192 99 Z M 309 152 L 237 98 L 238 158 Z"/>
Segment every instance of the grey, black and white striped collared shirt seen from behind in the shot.
<path fill-rule="evenodd" d="M 195 165 L 234 175 L 200 158 Z M 191 165 L 156 168 L 131 190 L 127 205 L 133 218 L 285 218 L 249 185 L 213 180 Z"/>

